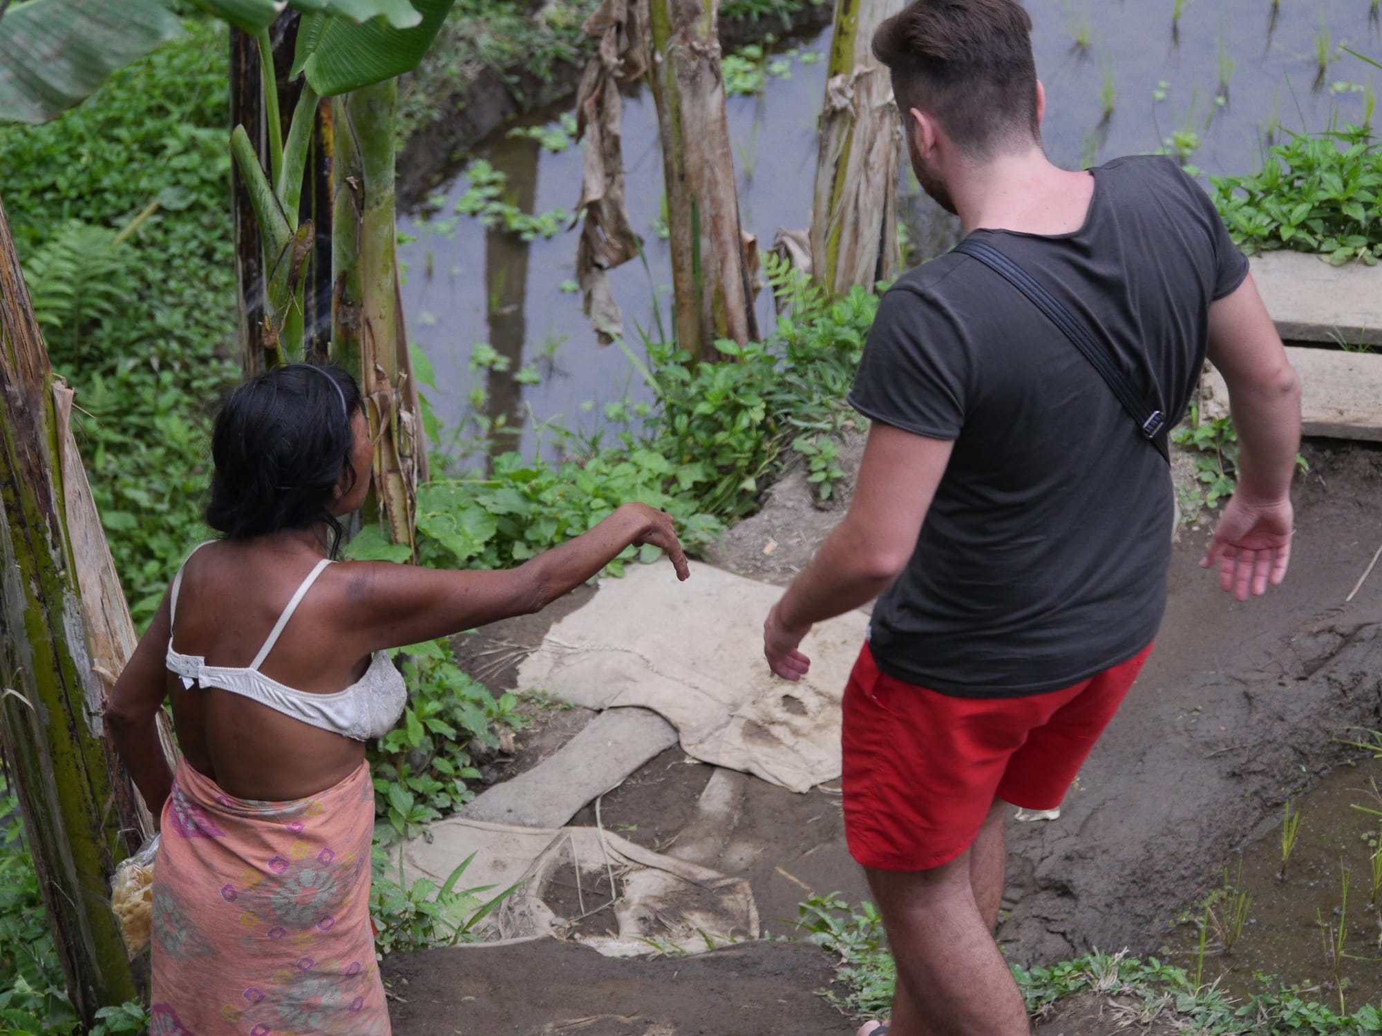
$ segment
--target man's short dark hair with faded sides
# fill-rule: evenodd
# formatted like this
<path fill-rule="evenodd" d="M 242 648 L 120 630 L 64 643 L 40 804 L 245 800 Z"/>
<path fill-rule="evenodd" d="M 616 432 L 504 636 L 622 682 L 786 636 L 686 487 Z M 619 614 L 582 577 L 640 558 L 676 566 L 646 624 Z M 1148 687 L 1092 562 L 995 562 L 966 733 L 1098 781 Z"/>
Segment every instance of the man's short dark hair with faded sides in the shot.
<path fill-rule="evenodd" d="M 987 157 L 1041 140 L 1031 28 L 1014 0 L 912 0 L 878 26 L 873 55 L 904 115 L 936 116 L 955 144 Z"/>

